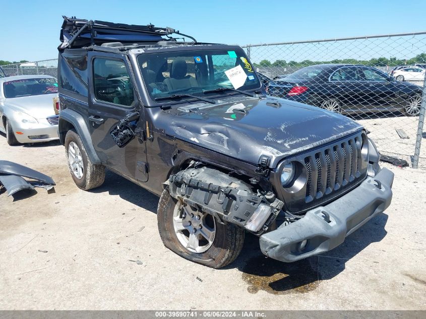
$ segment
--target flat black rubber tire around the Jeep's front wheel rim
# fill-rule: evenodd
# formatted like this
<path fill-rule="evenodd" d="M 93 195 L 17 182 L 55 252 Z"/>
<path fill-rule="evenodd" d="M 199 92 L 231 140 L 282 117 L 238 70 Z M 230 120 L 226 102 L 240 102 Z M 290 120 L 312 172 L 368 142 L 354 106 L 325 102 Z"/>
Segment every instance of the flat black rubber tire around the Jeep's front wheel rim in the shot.
<path fill-rule="evenodd" d="M 244 229 L 233 224 L 223 225 L 217 220 L 214 223 L 213 243 L 210 246 L 206 245 L 207 249 L 200 249 L 202 252 L 194 252 L 182 245 L 173 222 L 176 209 L 180 208 L 181 203 L 170 196 L 168 187 L 164 189 L 157 209 L 158 231 L 164 246 L 180 257 L 211 268 L 224 267 L 238 257 L 244 243 Z M 195 213 L 202 214 L 201 212 Z M 210 218 L 214 219 L 212 216 Z"/>

